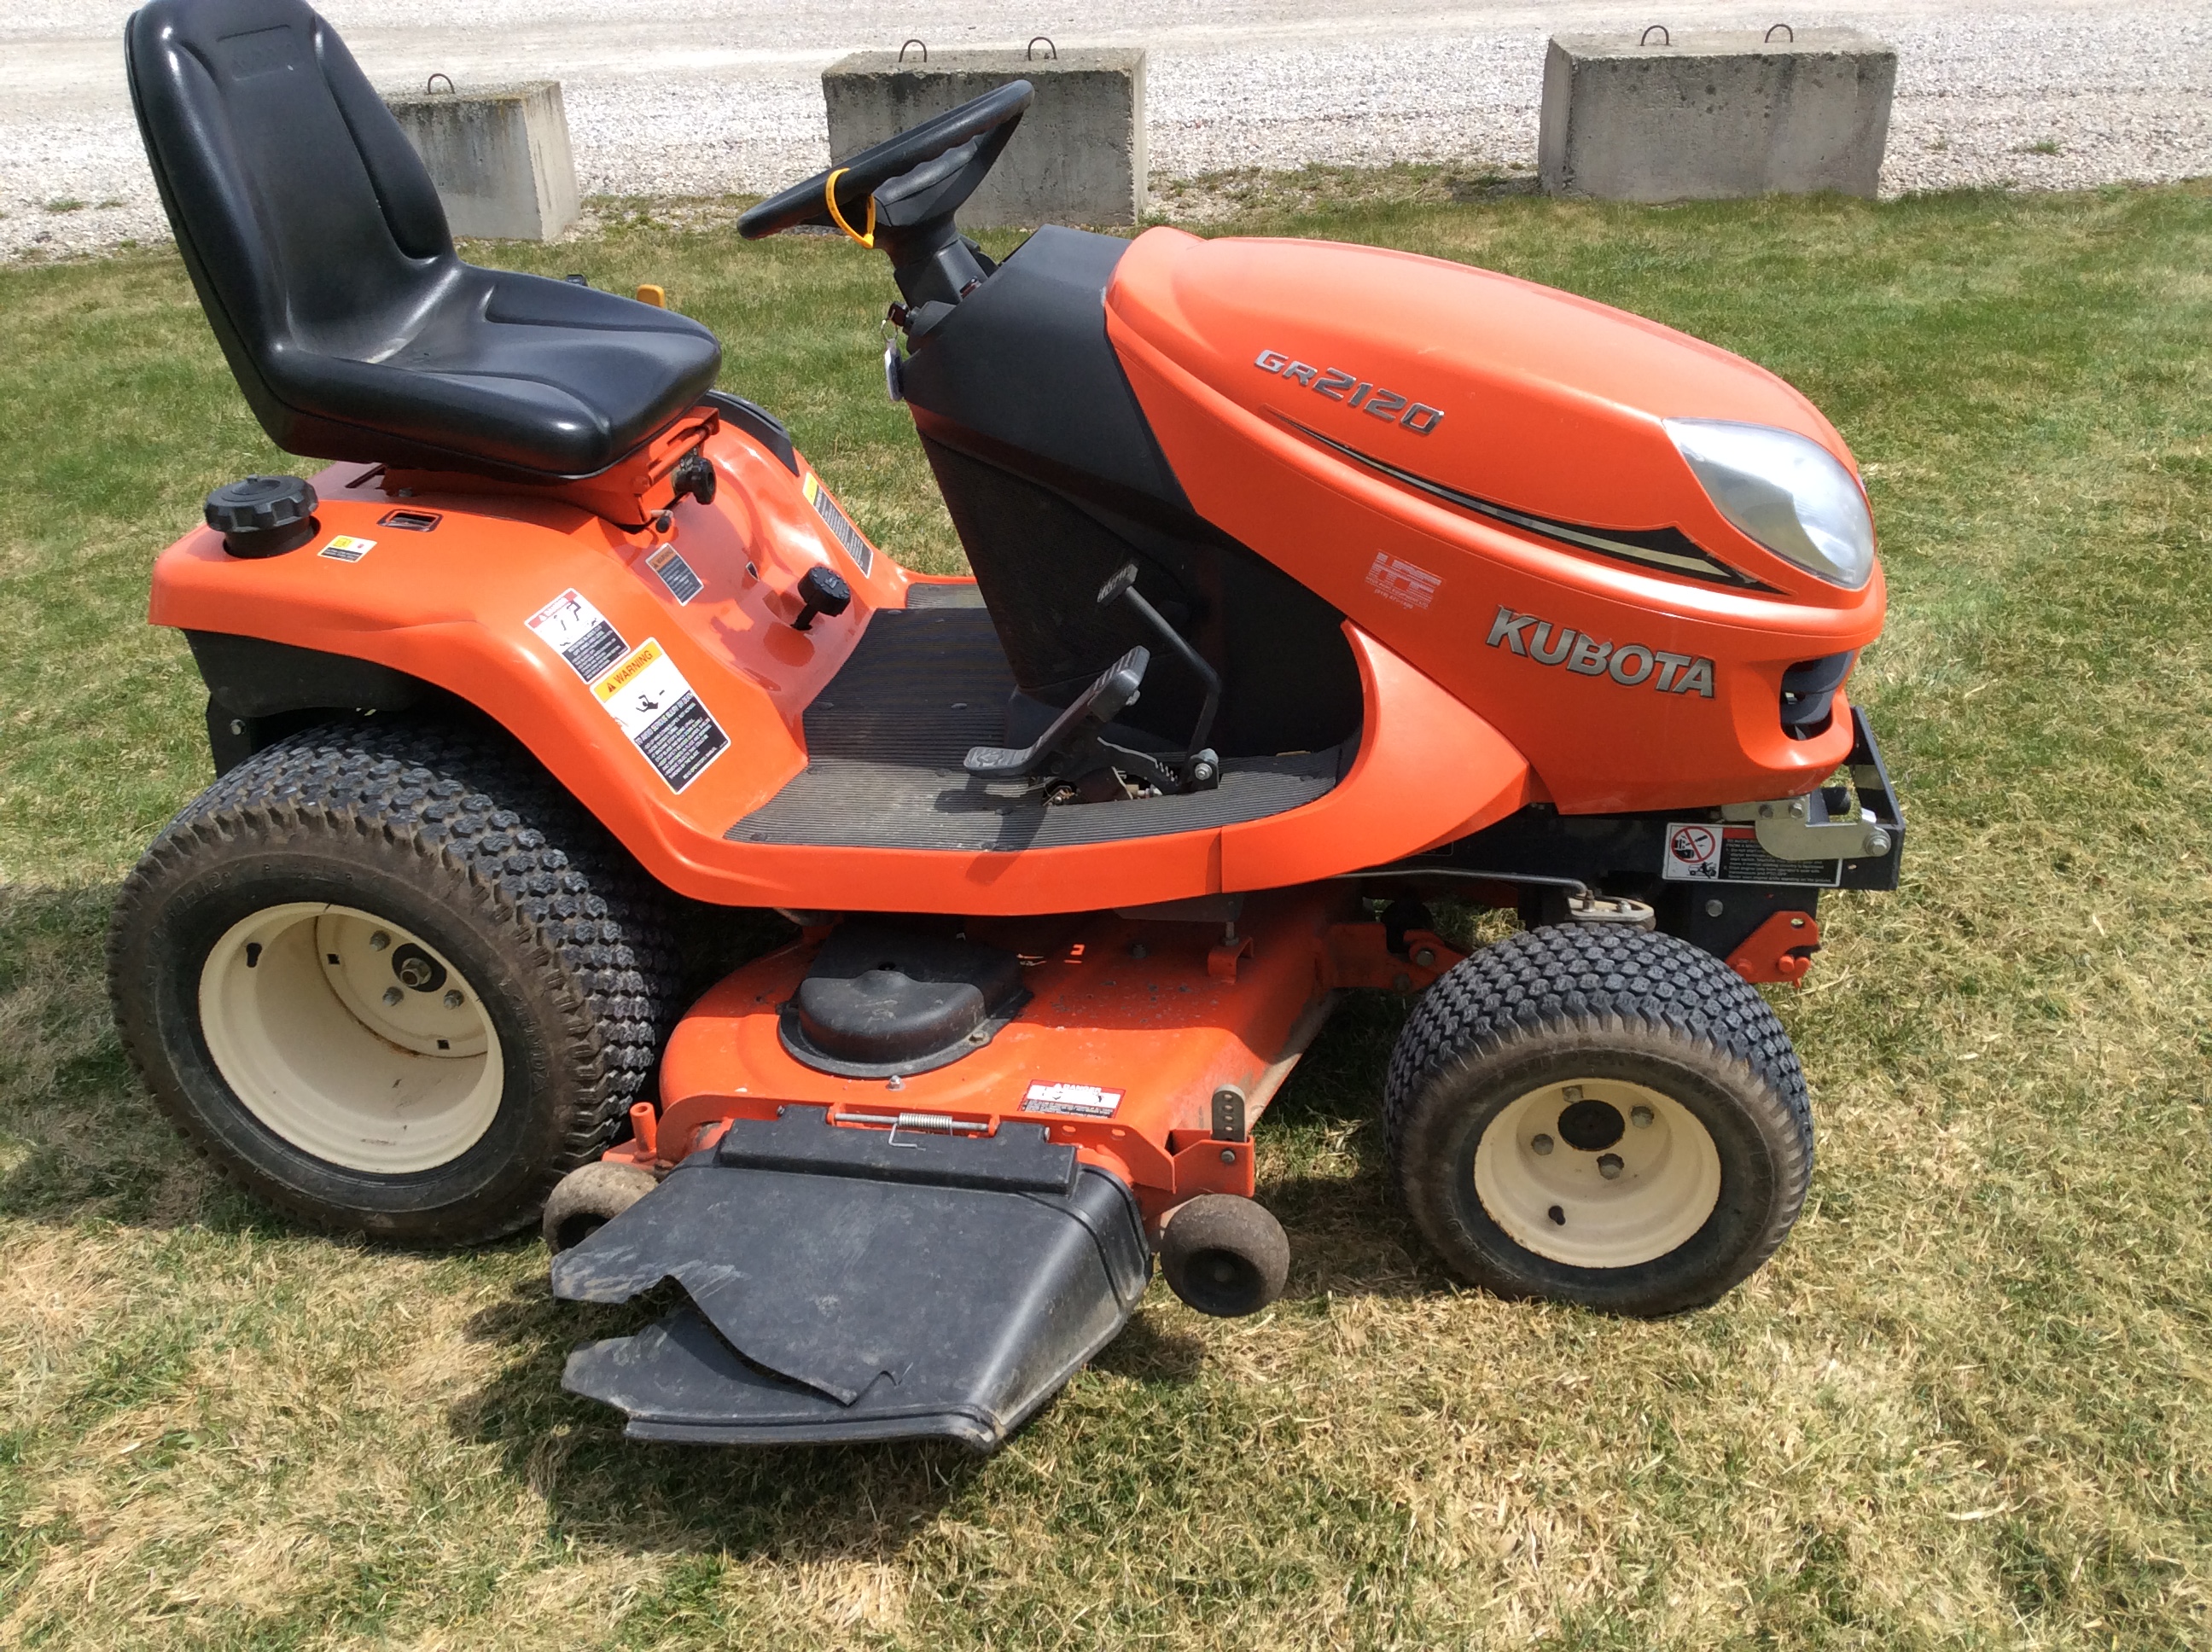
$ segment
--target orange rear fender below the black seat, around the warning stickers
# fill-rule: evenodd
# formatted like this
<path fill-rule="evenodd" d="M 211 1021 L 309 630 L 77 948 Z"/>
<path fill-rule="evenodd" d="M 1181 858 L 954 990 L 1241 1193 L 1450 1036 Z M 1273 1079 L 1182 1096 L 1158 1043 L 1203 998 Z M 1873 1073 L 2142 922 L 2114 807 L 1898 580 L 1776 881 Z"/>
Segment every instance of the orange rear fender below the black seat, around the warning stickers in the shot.
<path fill-rule="evenodd" d="M 752 442 L 726 431 L 708 451 L 717 498 L 679 504 L 668 533 L 624 533 L 573 504 L 513 493 L 387 493 L 378 469 L 334 464 L 314 478 L 319 540 L 241 562 L 212 531 L 188 533 L 155 564 L 150 617 L 374 659 L 447 688 L 529 745 L 655 876 L 728 900 L 721 832 L 801 770 L 807 701 L 845 663 L 867 613 L 905 602 L 907 575 L 880 555 L 863 575 L 799 480 Z M 411 533 L 387 524 L 396 511 L 436 513 L 438 524 Z M 372 548 L 325 555 L 338 535 Z M 664 544 L 699 579 L 688 602 L 653 568 Z M 854 606 L 801 635 L 787 624 L 792 588 L 816 564 L 852 582 Z M 531 628 L 566 593 L 606 619 L 622 652 L 659 644 L 723 730 L 728 745 L 681 790 L 593 694 L 606 663 L 575 668 Z"/>

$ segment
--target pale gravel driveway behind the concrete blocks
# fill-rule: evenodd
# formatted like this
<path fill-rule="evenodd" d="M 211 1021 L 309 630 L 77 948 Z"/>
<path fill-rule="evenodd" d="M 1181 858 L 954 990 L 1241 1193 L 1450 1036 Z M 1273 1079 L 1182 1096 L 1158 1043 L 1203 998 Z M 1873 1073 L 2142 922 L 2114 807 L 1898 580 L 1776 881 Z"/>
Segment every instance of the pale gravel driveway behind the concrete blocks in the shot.
<path fill-rule="evenodd" d="M 0 257 L 166 234 L 131 124 L 131 0 L 13 0 L 0 13 Z M 1159 175 L 1305 161 L 1535 166 L 1555 29 L 1849 22 L 1898 46 L 1885 192 L 2073 188 L 2212 172 L 2205 0 L 1869 0 L 1792 13 L 1652 0 L 325 0 L 385 86 L 553 75 L 586 192 L 770 190 L 827 164 L 821 69 L 918 35 L 933 46 L 1150 49 Z M 456 22 L 456 13 L 467 20 Z M 1203 18 L 1203 20 L 1199 20 Z"/>

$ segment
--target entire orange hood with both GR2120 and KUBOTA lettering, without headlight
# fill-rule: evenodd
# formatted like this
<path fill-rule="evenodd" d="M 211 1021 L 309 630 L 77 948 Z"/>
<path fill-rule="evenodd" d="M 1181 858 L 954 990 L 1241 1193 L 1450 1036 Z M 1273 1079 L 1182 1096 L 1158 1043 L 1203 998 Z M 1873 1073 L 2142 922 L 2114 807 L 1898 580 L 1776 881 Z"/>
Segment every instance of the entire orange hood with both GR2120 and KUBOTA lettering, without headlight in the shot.
<path fill-rule="evenodd" d="M 1316 241 L 1150 230 L 1106 332 L 1192 509 L 1528 756 L 1568 814 L 1792 796 L 1783 679 L 1882 628 L 1705 498 L 1661 420 L 1796 431 L 1774 374 L 1511 276 Z"/>

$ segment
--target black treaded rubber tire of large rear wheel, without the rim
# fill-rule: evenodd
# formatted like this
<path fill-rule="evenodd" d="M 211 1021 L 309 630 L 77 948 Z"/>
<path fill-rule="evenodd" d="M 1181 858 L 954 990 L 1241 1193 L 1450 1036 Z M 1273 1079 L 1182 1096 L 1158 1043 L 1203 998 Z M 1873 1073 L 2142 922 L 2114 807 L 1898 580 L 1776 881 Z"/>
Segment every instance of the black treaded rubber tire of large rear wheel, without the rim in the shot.
<path fill-rule="evenodd" d="M 504 1086 L 491 1126 L 451 1161 L 411 1174 L 330 1163 L 223 1081 L 199 971 L 230 924 L 294 900 L 403 924 L 476 986 Z M 108 986 L 155 1104 L 226 1177 L 307 1225 L 422 1245 L 535 1221 L 615 1137 L 679 1008 L 664 891 L 473 717 L 336 721 L 223 774 L 124 882 Z"/>

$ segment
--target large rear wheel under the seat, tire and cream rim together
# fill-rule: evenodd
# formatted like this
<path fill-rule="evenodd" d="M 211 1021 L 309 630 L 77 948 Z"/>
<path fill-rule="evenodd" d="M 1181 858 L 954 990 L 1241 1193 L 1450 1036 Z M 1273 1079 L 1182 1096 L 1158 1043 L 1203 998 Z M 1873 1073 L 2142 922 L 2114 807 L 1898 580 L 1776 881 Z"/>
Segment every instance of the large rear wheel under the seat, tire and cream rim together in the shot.
<path fill-rule="evenodd" d="M 153 843 L 108 938 L 155 1101 L 288 1216 L 414 1243 L 533 1221 L 675 1008 L 657 889 L 504 734 L 294 734 Z"/>

